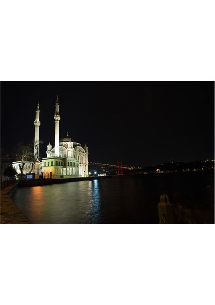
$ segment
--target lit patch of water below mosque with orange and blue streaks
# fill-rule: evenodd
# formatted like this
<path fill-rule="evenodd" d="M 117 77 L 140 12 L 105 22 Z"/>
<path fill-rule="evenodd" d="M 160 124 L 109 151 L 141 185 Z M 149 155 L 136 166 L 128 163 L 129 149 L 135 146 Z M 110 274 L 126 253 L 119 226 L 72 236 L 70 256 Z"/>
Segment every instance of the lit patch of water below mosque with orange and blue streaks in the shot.
<path fill-rule="evenodd" d="M 18 189 L 15 203 L 32 223 L 100 223 L 97 180 Z"/>

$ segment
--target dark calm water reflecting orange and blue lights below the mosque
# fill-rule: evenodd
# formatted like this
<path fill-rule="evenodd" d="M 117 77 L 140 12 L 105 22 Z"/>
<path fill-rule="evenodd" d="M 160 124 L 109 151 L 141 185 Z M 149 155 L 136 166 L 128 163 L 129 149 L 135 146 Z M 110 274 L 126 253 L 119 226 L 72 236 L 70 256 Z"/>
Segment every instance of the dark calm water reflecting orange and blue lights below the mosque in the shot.
<path fill-rule="evenodd" d="M 12 199 L 33 224 L 158 224 L 164 193 L 176 223 L 214 223 L 214 171 L 18 188 Z"/>

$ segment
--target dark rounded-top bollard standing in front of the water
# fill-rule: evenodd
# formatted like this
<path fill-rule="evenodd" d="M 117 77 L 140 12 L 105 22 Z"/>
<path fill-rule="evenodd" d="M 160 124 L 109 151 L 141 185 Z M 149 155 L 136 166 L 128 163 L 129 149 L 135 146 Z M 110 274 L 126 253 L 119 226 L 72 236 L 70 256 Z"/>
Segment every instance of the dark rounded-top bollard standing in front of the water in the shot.
<path fill-rule="evenodd" d="M 174 224 L 173 204 L 166 194 L 160 196 L 158 203 L 159 224 Z"/>

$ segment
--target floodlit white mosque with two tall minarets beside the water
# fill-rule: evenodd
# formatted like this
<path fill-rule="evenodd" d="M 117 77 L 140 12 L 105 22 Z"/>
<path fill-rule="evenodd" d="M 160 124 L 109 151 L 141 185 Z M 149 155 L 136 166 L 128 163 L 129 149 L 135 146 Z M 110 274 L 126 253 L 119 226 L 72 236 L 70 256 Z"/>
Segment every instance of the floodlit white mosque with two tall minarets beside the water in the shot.
<path fill-rule="evenodd" d="M 36 109 L 36 118 L 34 121 L 35 125 L 35 138 L 34 138 L 34 158 L 35 162 L 32 173 L 36 174 L 36 177 L 43 172 L 45 178 L 78 178 L 88 177 L 88 147 L 81 147 L 80 143 L 72 142 L 69 134 L 66 137 L 59 139 L 59 100 L 55 103 L 55 146 L 47 145 L 46 155 L 47 157 L 42 158 L 42 161 L 38 160 L 39 156 L 39 127 L 40 127 L 40 109 L 39 103 Z M 13 162 L 13 167 L 17 173 L 20 173 L 19 164 L 21 161 Z M 31 168 L 32 162 L 26 161 L 23 173 L 26 174 Z"/>

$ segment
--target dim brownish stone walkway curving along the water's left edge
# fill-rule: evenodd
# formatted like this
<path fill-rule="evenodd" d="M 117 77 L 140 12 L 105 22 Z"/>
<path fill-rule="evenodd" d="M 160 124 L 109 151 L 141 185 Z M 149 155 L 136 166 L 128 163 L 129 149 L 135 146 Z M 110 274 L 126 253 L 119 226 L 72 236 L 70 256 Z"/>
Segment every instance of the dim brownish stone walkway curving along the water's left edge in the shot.
<path fill-rule="evenodd" d="M 0 224 L 31 224 L 27 216 L 15 205 L 8 195 L 15 187 L 15 185 L 11 185 L 1 190 Z"/>

